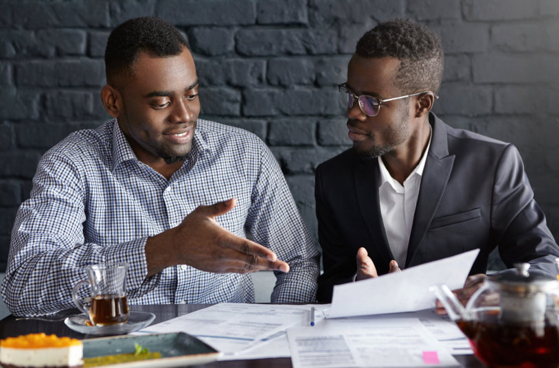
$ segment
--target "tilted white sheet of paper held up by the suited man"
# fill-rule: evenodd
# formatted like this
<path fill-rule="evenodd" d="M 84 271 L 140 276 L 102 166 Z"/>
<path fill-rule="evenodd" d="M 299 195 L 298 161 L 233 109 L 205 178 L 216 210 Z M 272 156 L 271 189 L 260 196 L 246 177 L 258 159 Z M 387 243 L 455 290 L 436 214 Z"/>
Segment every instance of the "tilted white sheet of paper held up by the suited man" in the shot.
<path fill-rule="evenodd" d="M 429 287 L 446 284 L 451 290 L 464 286 L 479 249 L 454 255 L 401 272 L 334 286 L 327 318 L 413 312 L 435 308 Z"/>

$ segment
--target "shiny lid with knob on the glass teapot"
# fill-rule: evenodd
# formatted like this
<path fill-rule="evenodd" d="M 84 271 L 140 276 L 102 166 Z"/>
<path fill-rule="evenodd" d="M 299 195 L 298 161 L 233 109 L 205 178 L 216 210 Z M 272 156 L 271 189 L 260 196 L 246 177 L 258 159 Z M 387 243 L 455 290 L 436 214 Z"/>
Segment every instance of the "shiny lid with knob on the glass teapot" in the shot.
<path fill-rule="evenodd" d="M 513 272 L 490 276 L 488 278 L 489 284 L 499 290 L 522 295 L 547 292 L 559 288 L 559 282 L 556 278 L 529 272 L 529 263 L 516 263 L 514 267 Z"/>

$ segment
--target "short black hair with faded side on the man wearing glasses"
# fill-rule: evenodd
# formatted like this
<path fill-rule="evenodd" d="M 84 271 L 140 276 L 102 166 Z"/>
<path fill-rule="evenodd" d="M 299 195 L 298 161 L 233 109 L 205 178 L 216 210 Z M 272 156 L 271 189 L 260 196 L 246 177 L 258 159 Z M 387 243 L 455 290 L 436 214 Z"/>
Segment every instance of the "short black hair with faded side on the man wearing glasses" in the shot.
<path fill-rule="evenodd" d="M 396 87 L 402 93 L 426 90 L 437 93 L 441 87 L 444 69 L 441 40 L 421 23 L 404 19 L 379 23 L 361 36 L 355 54 L 400 60 Z"/>

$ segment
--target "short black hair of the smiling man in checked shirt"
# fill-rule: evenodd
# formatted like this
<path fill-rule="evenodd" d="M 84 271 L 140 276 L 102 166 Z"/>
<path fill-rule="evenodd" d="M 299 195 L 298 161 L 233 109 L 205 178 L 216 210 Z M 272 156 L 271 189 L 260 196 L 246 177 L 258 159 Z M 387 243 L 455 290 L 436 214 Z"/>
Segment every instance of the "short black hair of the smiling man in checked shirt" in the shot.
<path fill-rule="evenodd" d="M 141 16 L 118 25 L 106 43 L 106 82 L 115 84 L 117 78 L 133 76 L 132 66 L 140 51 L 157 57 L 176 56 L 187 41 L 168 21 L 157 16 Z"/>

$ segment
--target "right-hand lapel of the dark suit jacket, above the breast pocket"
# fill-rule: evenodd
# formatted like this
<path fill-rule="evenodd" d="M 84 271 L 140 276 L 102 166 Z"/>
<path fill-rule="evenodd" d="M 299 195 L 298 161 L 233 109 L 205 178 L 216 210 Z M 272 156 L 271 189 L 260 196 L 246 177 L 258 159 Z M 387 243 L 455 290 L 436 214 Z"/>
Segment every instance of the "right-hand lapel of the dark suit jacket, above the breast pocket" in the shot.
<path fill-rule="evenodd" d="M 454 155 L 448 155 L 445 124 L 433 113 L 429 116 L 429 122 L 431 128 L 433 128 L 433 137 L 431 138 L 431 147 L 427 152 L 427 160 L 418 194 L 418 204 L 413 216 L 406 267 L 411 264 L 421 240 L 425 236 L 429 225 L 431 225 L 454 165 Z"/>

